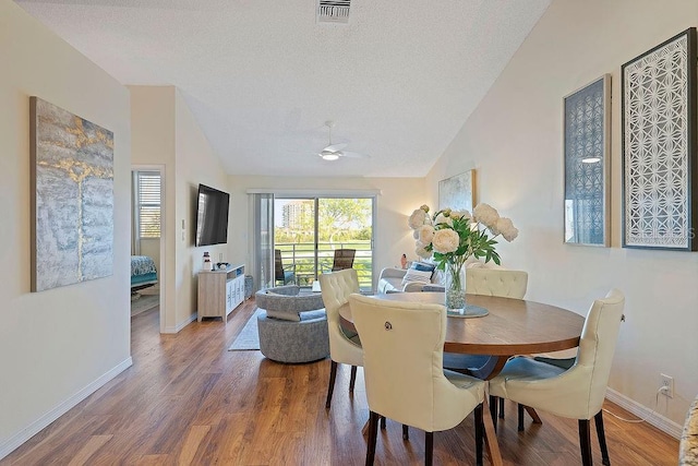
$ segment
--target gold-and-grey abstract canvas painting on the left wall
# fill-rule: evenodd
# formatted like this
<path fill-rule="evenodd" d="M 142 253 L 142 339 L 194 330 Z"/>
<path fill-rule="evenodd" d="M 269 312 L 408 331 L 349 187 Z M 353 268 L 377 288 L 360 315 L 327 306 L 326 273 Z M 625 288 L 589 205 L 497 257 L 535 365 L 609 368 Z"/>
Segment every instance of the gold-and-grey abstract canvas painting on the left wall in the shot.
<path fill-rule="evenodd" d="M 113 133 L 29 98 L 32 291 L 113 272 Z"/>

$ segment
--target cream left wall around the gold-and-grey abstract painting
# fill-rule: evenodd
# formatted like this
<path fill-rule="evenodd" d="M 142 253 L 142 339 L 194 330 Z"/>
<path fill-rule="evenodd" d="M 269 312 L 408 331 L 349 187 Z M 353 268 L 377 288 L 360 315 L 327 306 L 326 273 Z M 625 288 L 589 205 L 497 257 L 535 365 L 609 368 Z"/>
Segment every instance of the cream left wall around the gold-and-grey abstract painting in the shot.
<path fill-rule="evenodd" d="M 129 93 L 0 2 L 0 457 L 131 365 Z M 113 275 L 29 292 L 29 96 L 113 132 Z"/>

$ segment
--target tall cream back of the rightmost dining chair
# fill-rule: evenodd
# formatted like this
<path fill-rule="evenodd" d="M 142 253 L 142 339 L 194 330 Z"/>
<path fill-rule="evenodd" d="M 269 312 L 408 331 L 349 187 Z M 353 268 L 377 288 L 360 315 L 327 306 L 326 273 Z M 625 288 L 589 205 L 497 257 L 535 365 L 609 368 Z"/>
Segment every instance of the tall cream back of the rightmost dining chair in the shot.
<path fill-rule="evenodd" d="M 589 416 L 599 413 L 603 405 L 624 306 L 623 292 L 612 289 L 605 298 L 593 301 L 581 330 L 575 366 L 590 373 L 582 382 L 589 394 Z"/>

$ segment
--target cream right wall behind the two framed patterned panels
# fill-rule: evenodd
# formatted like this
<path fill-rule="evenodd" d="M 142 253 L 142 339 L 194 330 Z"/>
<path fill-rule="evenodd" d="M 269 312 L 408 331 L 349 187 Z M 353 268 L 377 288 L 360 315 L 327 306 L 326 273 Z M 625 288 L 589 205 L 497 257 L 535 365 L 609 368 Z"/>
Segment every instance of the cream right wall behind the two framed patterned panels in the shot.
<path fill-rule="evenodd" d="M 554 0 L 428 177 L 435 199 L 440 179 L 476 167 L 480 201 L 520 229 L 498 251 L 504 265 L 529 272 L 528 298 L 586 314 L 610 288 L 626 294 L 610 387 L 621 402 L 654 408 L 659 373 L 673 375 L 675 397 L 658 410 L 674 428 L 698 393 L 698 254 L 619 246 L 619 73 L 696 25 L 695 0 Z M 613 81 L 613 244 L 566 246 L 562 98 L 604 73 Z"/>

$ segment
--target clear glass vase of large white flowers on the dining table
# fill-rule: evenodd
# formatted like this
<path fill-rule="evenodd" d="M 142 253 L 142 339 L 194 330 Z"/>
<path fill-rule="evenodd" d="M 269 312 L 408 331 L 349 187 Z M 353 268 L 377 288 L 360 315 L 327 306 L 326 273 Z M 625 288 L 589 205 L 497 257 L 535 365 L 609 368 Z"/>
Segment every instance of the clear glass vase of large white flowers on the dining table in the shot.
<path fill-rule="evenodd" d="M 422 205 L 409 217 L 417 240 L 417 255 L 433 258 L 436 268 L 445 272 L 447 311 L 466 313 L 464 264 L 472 256 L 498 265 L 501 259 L 495 250 L 495 238 L 502 236 L 513 241 L 519 230 L 489 204 L 479 204 L 472 214 L 443 208 L 430 216 L 429 211 L 428 205 Z"/>

